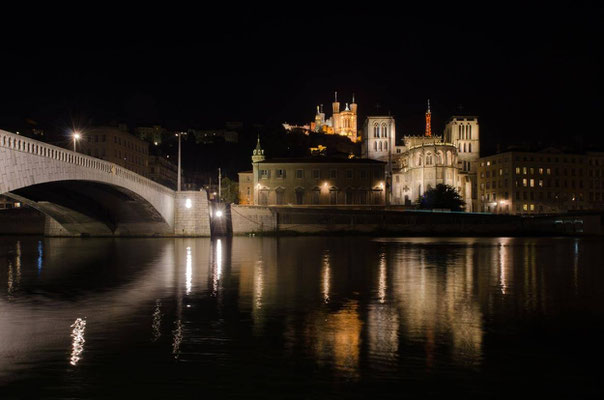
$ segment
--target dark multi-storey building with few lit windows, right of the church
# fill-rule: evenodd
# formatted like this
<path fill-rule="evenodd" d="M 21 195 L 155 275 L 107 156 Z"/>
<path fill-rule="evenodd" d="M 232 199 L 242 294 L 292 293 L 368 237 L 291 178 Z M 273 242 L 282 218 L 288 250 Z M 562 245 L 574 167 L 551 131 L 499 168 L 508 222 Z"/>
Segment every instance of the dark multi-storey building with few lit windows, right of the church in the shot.
<path fill-rule="evenodd" d="M 604 209 L 604 153 L 508 151 L 479 160 L 480 211 L 548 214 Z"/>

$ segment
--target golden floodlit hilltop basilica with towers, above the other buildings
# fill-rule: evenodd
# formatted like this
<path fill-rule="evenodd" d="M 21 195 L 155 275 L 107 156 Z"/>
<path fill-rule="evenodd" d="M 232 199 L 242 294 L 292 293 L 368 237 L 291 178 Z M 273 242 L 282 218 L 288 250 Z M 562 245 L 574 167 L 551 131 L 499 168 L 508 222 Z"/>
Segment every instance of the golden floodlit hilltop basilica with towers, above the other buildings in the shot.
<path fill-rule="evenodd" d="M 340 135 L 350 139 L 351 142 L 357 142 L 360 140 L 357 128 L 357 103 L 354 100 L 354 94 L 352 95 L 352 101 L 350 103 L 344 103 L 344 109 L 341 109 L 341 104 L 338 101 L 338 92 L 335 92 L 334 102 L 332 105 L 333 115 L 330 118 L 325 117 L 323 111 L 323 105 L 317 106 L 317 113 L 315 120 L 310 124 L 297 126 L 290 125 L 287 123 L 283 124 L 283 127 L 288 130 L 300 129 L 308 134 L 310 131 L 323 133 L 326 135 Z"/>

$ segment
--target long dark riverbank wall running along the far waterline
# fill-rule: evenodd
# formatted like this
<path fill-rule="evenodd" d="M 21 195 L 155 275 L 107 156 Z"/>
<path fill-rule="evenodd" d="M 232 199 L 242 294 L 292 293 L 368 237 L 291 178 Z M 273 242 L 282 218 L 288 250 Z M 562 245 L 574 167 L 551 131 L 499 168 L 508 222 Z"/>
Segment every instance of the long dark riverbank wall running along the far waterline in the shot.
<path fill-rule="evenodd" d="M 234 235 L 602 235 L 600 214 L 516 216 L 372 208 L 231 206 Z"/>

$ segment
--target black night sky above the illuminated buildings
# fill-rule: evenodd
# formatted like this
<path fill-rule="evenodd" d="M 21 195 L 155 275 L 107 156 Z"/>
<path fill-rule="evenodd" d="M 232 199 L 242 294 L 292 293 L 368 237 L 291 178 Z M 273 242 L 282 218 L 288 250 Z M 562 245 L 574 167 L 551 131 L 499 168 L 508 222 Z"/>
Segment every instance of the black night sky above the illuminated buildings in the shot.
<path fill-rule="evenodd" d="M 329 10 L 254 8 L 237 17 L 5 14 L 0 128 L 27 117 L 56 129 L 302 123 L 337 90 L 342 102 L 356 93 L 361 118 L 376 104 L 391 112 L 399 132 L 422 131 L 430 98 L 436 131 L 462 105 L 480 117 L 487 149 L 603 145 L 602 9 L 493 4 L 358 9 L 337 20 Z"/>

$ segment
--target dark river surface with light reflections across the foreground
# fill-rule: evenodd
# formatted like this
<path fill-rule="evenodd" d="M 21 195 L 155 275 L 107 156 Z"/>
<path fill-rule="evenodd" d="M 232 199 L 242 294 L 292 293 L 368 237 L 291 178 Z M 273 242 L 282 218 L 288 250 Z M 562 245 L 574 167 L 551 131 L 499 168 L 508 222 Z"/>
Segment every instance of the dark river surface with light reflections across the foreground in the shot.
<path fill-rule="evenodd" d="M 602 398 L 604 241 L 0 238 L 0 398 Z"/>

